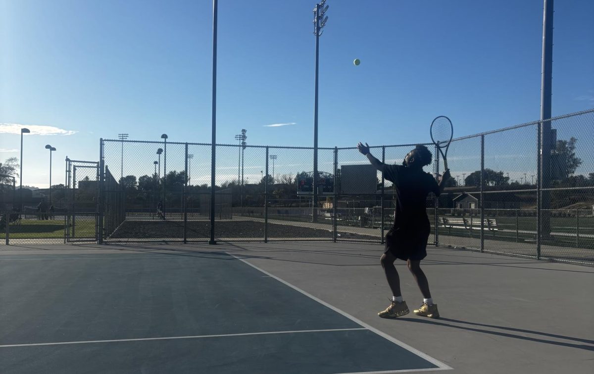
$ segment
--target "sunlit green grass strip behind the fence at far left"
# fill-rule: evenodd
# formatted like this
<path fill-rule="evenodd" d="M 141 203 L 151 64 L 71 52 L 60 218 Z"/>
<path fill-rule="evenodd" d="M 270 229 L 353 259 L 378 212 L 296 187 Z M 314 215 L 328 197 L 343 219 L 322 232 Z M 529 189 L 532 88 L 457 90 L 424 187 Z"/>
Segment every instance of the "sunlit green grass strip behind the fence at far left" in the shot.
<path fill-rule="evenodd" d="M 71 235 L 72 236 L 72 235 Z M 23 219 L 20 224 L 10 225 L 11 239 L 63 239 L 64 219 Z M 75 222 L 74 238 L 94 238 L 95 220 L 93 217 L 84 217 Z M 0 238 L 6 238 L 6 232 L 0 232 Z"/>

